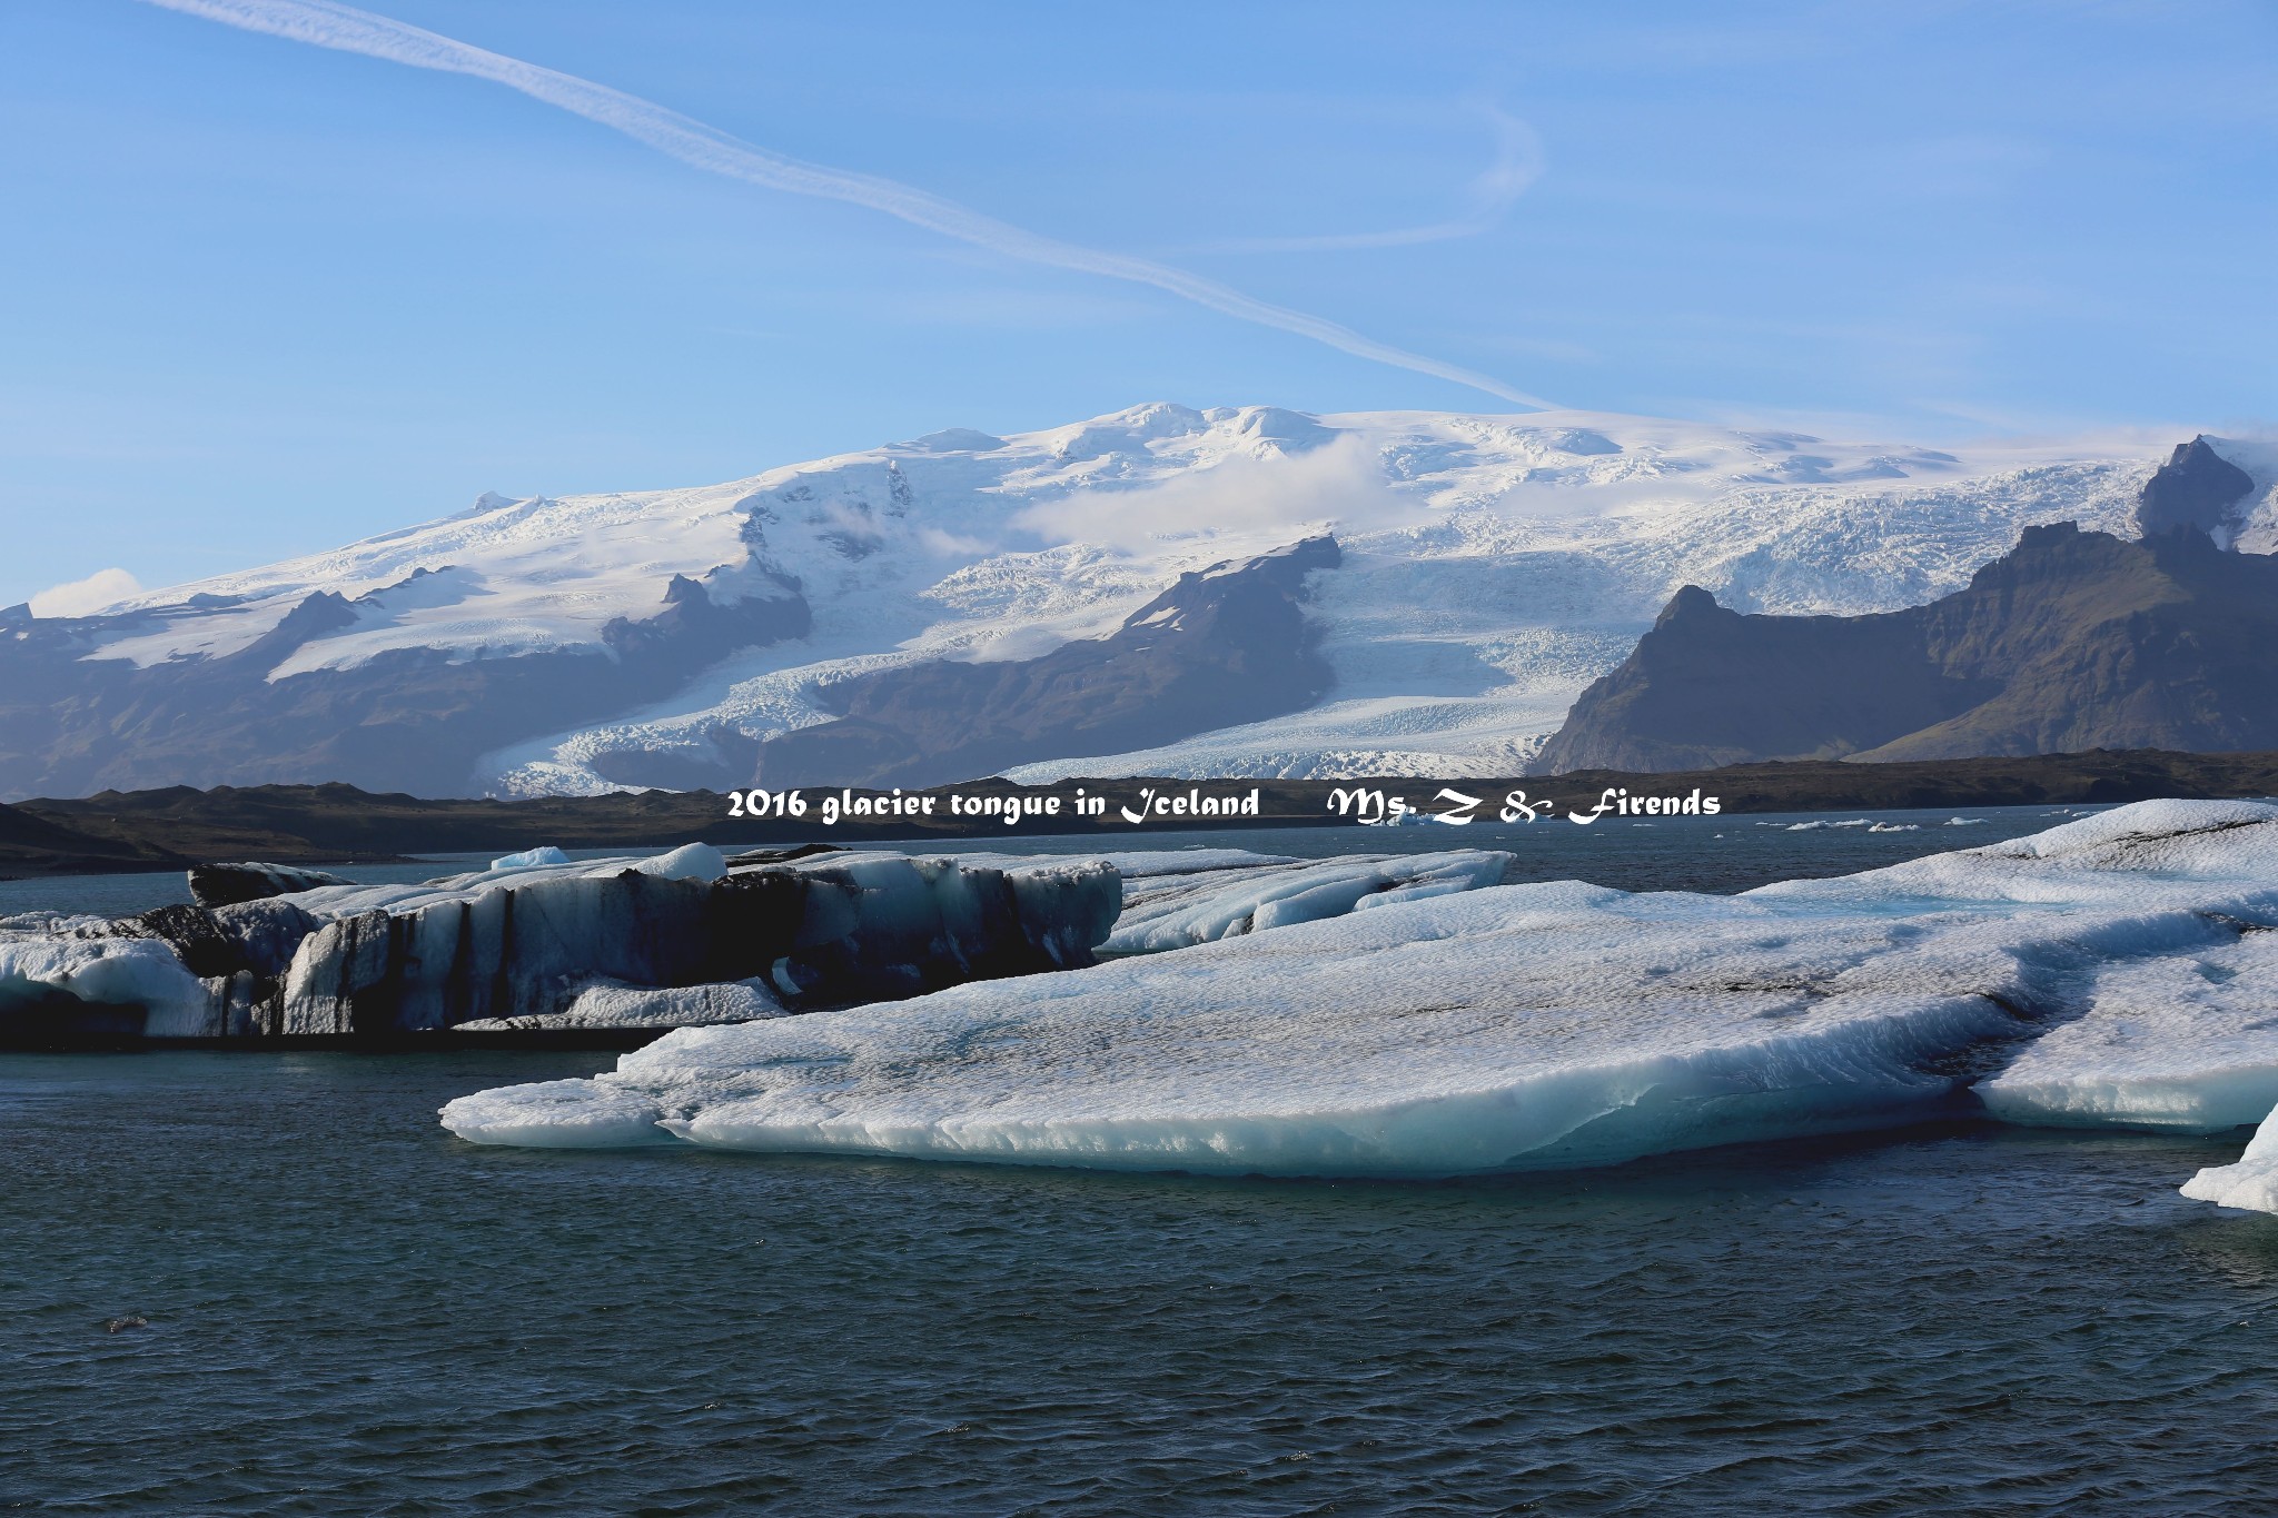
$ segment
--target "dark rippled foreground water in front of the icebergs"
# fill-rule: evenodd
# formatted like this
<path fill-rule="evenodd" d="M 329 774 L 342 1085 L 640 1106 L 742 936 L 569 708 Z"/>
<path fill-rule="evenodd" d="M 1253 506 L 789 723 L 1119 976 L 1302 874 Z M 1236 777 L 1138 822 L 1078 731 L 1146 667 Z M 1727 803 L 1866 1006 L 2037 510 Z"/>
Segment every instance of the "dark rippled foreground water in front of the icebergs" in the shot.
<path fill-rule="evenodd" d="M 2237 1140 L 1462 1186 L 513 1152 L 563 1054 L 0 1056 L 48 1513 L 2253 1513 Z M 148 1327 L 107 1334 L 107 1318 Z"/>

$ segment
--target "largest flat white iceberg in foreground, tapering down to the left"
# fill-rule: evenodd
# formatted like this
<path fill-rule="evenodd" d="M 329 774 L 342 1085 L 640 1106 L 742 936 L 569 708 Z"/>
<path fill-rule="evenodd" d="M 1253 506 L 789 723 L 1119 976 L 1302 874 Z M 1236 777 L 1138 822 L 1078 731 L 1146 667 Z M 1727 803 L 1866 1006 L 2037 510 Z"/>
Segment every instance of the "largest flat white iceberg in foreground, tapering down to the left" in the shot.
<path fill-rule="evenodd" d="M 592 1108 L 563 1083 L 503 1088 L 453 1102 L 444 1124 L 615 1142 L 592 1136 L 624 1136 L 638 1111 L 724 1149 L 1123 1170 L 1601 1165 L 1968 1111 L 1968 1088 L 2034 1038 L 2093 1020 L 2100 985 L 2264 926 L 2278 926 L 2278 806 L 2146 801 L 1740 897 L 1467 890 L 1073 974 L 683 1031 L 595 1076 Z M 2205 1015 L 2223 1020 L 2212 999 Z M 2178 1081 L 2214 1113 L 2239 1070 L 2278 1058 L 2278 1029 L 2246 1026 L 2257 1020 L 2232 1004 L 2196 1072 L 2055 1120 L 2175 1127 Z M 2066 1058 L 2043 1083 L 2112 1092 L 2132 1067 L 2087 1042 Z"/>

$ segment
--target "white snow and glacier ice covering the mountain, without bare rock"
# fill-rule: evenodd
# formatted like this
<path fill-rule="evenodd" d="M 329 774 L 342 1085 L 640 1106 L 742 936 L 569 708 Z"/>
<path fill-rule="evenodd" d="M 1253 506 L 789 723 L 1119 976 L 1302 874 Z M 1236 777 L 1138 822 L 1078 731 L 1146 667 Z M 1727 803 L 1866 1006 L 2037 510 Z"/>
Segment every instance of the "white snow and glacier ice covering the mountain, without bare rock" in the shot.
<path fill-rule="evenodd" d="M 813 610 L 647 710 L 483 760 L 494 794 L 620 790 L 611 753 L 708 753 L 825 721 L 818 690 L 913 660 L 1016 660 L 1112 633 L 1178 574 L 1333 530 L 1308 614 L 1335 687 L 1312 710 L 1175 746 L 1050 756 L 1014 778 L 1166 774 L 1503 776 L 1686 583 L 1763 612 L 1936 599 L 2023 526 L 2128 530 L 2173 442 L 2125 435 L 1932 451 L 1597 412 L 1474 416 L 1141 405 L 1075 426 L 934 432 L 697 489 L 510 501 L 267 569 L 123 601 L 91 658 L 248 649 L 312 592 L 353 626 L 269 680 L 390 649 L 453 660 L 601 651 L 611 619 L 711 601 Z M 2273 460 L 2214 439 L 2257 482 L 2242 546 L 2278 539 Z M 426 571 L 426 574 L 419 574 Z M 417 576 L 417 578 L 415 578 Z"/>

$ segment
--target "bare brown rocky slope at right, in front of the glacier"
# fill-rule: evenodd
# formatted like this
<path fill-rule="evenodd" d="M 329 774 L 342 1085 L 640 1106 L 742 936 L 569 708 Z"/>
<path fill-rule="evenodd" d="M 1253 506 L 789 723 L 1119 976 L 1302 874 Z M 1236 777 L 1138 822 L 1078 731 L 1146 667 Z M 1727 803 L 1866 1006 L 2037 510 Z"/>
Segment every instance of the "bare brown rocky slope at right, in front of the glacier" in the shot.
<path fill-rule="evenodd" d="M 1968 589 L 1873 617 L 1743 617 L 1681 589 L 1540 767 L 1939 760 L 2278 744 L 2278 558 L 2175 528 L 2027 528 Z"/>

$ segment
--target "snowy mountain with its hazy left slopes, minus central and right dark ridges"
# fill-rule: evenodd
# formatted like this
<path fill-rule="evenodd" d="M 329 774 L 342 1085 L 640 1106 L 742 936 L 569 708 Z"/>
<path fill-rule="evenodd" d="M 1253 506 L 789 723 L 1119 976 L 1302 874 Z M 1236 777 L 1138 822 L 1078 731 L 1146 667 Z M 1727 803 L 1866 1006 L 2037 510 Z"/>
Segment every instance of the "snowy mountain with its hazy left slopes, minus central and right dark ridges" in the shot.
<path fill-rule="evenodd" d="M 1303 599 L 1326 694 L 1009 774 L 1515 774 L 1679 585 L 1761 612 L 1918 605 L 2027 523 L 2125 530 L 2171 442 L 1932 451 L 1590 412 L 1144 405 L 697 489 L 483 496 L 100 617 L 0 612 L 0 665 L 30 671 L 30 694 L 0 694 L 0 794 L 749 783 L 752 749 L 838 717 L 854 676 L 1036 660 L 1114 635 L 1182 574 L 1319 535 L 1342 551 Z M 2278 469 L 2212 442 L 2257 480 L 2239 546 L 2278 537 Z M 153 685 L 221 671 L 196 710 Z M 66 694 L 80 726 L 34 712 Z M 401 721 L 417 751 L 390 749 Z"/>

